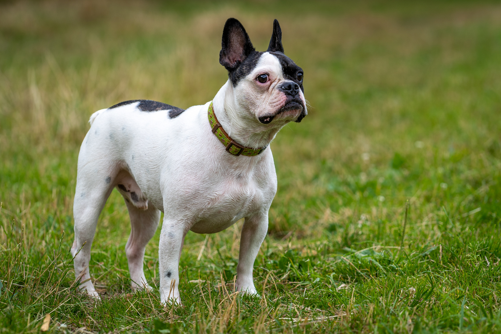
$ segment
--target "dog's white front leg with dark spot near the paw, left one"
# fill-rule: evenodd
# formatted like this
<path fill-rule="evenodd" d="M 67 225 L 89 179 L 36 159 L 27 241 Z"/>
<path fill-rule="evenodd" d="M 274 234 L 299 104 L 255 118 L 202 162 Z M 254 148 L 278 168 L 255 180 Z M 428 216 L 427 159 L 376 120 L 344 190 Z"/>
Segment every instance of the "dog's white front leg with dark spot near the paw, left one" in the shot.
<path fill-rule="evenodd" d="M 179 298 L 179 258 L 183 247 L 184 224 L 164 218 L 158 247 L 160 302 L 181 303 Z"/>

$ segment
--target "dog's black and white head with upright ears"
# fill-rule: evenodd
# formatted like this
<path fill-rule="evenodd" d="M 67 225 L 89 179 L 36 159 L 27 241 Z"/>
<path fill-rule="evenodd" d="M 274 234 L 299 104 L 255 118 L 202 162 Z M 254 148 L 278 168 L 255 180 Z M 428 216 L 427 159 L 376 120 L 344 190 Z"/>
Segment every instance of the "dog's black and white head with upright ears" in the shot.
<path fill-rule="evenodd" d="M 219 63 L 228 70 L 234 104 L 259 127 L 282 127 L 306 116 L 303 69 L 284 54 L 277 20 L 266 52 L 256 51 L 236 19 L 224 25 Z M 242 116 L 242 115 L 240 115 Z"/>

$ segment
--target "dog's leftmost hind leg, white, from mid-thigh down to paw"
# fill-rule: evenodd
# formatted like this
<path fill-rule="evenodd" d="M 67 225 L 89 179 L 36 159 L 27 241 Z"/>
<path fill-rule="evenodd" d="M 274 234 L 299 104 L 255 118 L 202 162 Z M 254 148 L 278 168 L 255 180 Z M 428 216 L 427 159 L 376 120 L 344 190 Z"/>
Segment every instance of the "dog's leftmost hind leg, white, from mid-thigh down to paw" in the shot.
<path fill-rule="evenodd" d="M 99 294 L 92 284 L 89 273 L 89 262 L 97 220 L 113 190 L 111 185 L 113 176 L 110 176 L 106 170 L 106 167 L 103 166 L 96 172 L 91 170 L 88 165 L 79 165 L 75 200 L 73 202 L 75 241 L 71 253 L 74 257 L 75 276 L 81 282 L 80 289 L 87 290 L 89 295 L 98 299 Z"/>

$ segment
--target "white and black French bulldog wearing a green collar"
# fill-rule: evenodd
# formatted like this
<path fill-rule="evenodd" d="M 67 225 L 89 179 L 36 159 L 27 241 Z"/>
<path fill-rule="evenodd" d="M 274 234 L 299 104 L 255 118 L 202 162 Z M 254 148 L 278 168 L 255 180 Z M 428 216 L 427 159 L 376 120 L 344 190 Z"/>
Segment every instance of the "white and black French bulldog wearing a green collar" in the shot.
<path fill-rule="evenodd" d="M 270 142 L 307 115 L 303 70 L 284 54 L 277 20 L 266 52 L 241 23 L 226 21 L 219 63 L 228 80 L 212 101 L 186 110 L 130 100 L 90 117 L 78 156 L 71 248 L 80 289 L 99 299 L 89 274 L 99 214 L 114 188 L 125 199 L 131 233 L 125 252 L 133 291 L 151 287 L 144 250 L 164 213 L 158 251 L 160 301 L 180 303 L 179 260 L 188 231 L 216 233 L 245 218 L 236 291 L 258 294 L 253 266 L 268 232 L 277 191 Z"/>

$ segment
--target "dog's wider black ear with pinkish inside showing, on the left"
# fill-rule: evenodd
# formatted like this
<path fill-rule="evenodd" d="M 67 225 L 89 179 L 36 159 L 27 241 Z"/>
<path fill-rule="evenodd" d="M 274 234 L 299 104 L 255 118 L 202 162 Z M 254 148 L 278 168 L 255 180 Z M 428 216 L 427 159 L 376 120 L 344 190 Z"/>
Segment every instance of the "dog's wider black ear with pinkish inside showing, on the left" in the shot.
<path fill-rule="evenodd" d="M 226 20 L 222 30 L 219 63 L 231 72 L 255 50 L 242 24 L 233 18 Z"/>

